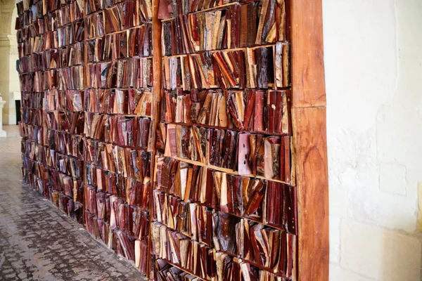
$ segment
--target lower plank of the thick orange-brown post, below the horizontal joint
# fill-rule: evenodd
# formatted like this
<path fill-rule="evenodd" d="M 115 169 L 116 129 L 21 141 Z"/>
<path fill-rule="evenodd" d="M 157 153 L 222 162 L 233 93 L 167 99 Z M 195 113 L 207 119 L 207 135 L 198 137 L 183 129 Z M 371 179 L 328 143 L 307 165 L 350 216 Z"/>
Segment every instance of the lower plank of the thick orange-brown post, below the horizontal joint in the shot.
<path fill-rule="evenodd" d="M 326 107 L 293 108 L 298 186 L 298 280 L 328 281 Z"/>

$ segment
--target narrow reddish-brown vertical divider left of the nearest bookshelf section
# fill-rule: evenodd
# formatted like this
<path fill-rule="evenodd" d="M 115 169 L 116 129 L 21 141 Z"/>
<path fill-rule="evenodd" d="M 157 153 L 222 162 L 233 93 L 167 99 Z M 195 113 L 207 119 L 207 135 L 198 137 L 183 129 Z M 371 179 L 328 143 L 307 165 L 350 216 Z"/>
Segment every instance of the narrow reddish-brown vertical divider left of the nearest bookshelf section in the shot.
<path fill-rule="evenodd" d="M 161 108 L 161 95 L 162 95 L 162 50 L 161 50 L 161 20 L 158 19 L 158 8 L 160 6 L 160 0 L 153 0 L 153 128 L 150 133 L 153 134 L 151 143 L 151 192 L 150 192 L 150 235 L 148 239 L 148 275 L 150 280 L 154 280 L 153 272 L 151 268 L 155 265 L 151 265 L 151 247 L 152 247 L 152 232 L 151 224 L 153 223 L 153 189 L 155 186 L 155 138 L 156 129 L 160 123 L 160 108 Z"/>

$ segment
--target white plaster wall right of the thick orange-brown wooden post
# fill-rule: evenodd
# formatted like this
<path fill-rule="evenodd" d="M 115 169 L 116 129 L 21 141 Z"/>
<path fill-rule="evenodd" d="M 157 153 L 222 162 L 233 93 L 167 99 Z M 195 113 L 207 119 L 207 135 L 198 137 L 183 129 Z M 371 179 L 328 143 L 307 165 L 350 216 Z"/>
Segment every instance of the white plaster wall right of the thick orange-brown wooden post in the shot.
<path fill-rule="evenodd" d="M 421 280 L 422 0 L 323 10 L 330 280 Z"/>

